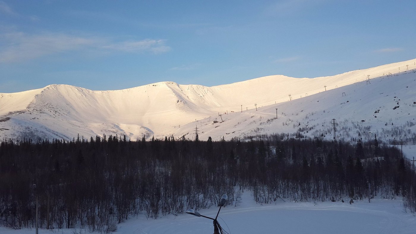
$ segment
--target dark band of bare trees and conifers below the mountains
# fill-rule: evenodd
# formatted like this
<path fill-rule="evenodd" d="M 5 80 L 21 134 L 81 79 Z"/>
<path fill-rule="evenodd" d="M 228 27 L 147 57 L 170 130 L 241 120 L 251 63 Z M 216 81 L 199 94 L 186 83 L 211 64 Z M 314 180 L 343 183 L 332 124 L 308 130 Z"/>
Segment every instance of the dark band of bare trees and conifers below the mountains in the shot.
<path fill-rule="evenodd" d="M 33 185 L 36 186 L 33 186 Z M 156 219 L 218 204 L 404 199 L 416 208 L 416 182 L 398 148 L 269 135 L 261 140 L 2 140 L 0 225 L 116 230 L 136 215 Z M 353 204 L 352 204 L 353 205 Z"/>

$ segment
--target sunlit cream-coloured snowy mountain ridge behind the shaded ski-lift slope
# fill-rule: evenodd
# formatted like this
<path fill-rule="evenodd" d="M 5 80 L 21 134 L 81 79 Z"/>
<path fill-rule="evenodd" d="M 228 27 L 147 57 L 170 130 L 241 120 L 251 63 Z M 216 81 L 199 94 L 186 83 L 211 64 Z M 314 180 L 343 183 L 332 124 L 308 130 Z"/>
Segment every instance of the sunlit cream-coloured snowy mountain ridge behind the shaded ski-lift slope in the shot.
<path fill-rule="evenodd" d="M 183 126 L 192 123 L 195 128 L 195 121 L 209 117 L 218 119 L 218 113 L 248 111 L 250 115 L 257 114 L 253 110 L 262 106 L 302 99 L 367 79 L 404 74 L 406 71 L 399 73 L 397 68 L 415 61 L 335 76 L 293 78 L 274 75 L 211 87 L 162 81 L 129 89 L 93 91 L 52 84 L 42 89 L 0 94 L 0 138 L 20 139 L 27 135 L 72 139 L 78 133 L 85 137 L 125 134 L 132 139 L 143 135 L 180 136 L 189 133 Z M 6 118 L 7 121 L 1 121 Z M 258 126 L 253 126 L 256 128 Z M 281 130 L 275 126 L 268 132 Z"/>

